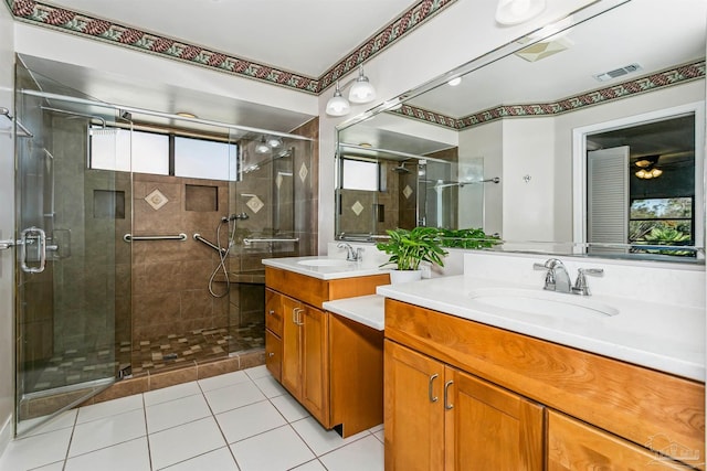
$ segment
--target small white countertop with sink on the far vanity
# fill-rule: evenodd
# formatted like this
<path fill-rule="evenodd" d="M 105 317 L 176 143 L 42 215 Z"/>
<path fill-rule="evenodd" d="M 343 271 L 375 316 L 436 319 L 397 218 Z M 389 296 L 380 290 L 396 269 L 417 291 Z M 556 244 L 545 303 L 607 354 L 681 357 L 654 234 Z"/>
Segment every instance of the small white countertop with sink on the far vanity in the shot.
<path fill-rule="evenodd" d="M 330 260 L 338 260 L 339 264 L 335 266 L 312 266 L 304 265 L 308 263 L 327 263 Z M 346 261 L 345 259 L 333 257 L 285 257 L 285 258 L 265 258 L 263 265 L 273 268 L 279 268 L 283 270 L 294 271 L 299 275 L 306 275 L 308 277 L 318 278 L 320 280 L 334 280 L 341 278 L 352 277 L 366 277 L 371 275 L 387 274 L 390 270 L 382 269 L 378 265 L 367 264 L 366 261 Z"/>

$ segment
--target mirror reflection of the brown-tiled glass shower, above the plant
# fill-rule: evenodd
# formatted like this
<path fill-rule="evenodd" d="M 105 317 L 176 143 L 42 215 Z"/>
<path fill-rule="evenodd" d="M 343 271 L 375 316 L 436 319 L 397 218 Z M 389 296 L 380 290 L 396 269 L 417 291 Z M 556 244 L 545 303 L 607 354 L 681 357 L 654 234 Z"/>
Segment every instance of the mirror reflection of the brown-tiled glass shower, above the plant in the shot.
<path fill-rule="evenodd" d="M 481 227 L 482 186 L 499 179 L 484 180 L 483 159 L 458 162 L 454 150 L 415 156 L 341 144 L 339 238 L 374 239 L 397 227 Z"/>

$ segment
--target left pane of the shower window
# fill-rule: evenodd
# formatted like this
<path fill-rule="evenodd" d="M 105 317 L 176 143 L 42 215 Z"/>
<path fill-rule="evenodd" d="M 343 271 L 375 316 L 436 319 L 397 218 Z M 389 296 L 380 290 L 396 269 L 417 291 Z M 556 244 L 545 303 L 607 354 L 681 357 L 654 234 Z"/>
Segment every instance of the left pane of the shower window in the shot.
<path fill-rule="evenodd" d="M 130 141 L 127 129 L 92 127 L 88 167 L 168 175 L 169 136 L 133 131 Z"/>

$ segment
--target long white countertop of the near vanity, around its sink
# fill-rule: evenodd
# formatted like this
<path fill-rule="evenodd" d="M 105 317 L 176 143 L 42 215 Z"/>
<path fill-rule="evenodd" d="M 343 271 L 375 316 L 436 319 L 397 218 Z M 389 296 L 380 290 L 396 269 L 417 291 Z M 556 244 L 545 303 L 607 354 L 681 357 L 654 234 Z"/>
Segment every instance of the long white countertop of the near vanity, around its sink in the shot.
<path fill-rule="evenodd" d="M 619 313 L 546 315 L 494 307 L 472 298 L 474 290 L 499 287 L 542 291 L 537 286 L 455 276 L 380 286 L 377 292 L 458 318 L 705 381 L 705 309 L 594 295 L 590 297 L 592 302 L 615 308 Z"/>

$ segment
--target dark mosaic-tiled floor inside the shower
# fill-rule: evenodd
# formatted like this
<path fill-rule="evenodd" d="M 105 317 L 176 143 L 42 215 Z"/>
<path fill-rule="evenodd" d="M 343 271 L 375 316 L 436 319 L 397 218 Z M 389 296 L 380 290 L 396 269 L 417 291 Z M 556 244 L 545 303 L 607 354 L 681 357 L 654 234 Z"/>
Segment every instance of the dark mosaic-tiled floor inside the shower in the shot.
<path fill-rule="evenodd" d="M 116 347 L 85 353 L 68 350 L 55 354 L 49 366 L 35 372 L 32 392 L 41 393 L 66 385 L 87 383 L 113 375 L 115 367 L 131 365 L 131 374 L 138 375 L 180 363 L 208 362 L 265 346 L 264 323 L 240 328 L 200 329 L 187 333 L 170 333 L 158 339 L 136 342 L 133 347 L 124 342 Z M 28 373 L 32 377 L 32 372 Z"/>

